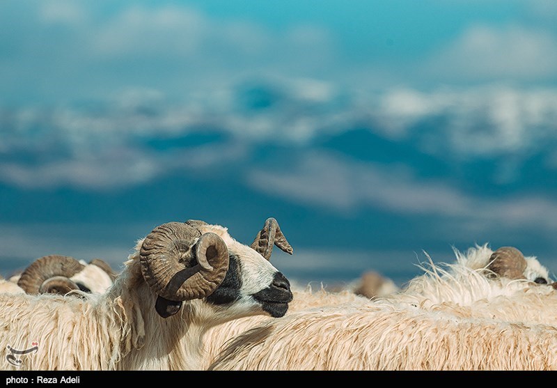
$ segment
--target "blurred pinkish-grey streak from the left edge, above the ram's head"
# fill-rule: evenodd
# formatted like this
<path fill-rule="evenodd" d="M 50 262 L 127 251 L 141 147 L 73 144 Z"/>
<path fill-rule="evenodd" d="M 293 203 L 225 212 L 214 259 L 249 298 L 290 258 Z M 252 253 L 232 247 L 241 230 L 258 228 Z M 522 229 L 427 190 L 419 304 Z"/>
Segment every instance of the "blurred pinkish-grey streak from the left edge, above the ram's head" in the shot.
<path fill-rule="evenodd" d="M 118 143 L 95 152 L 94 146 L 86 144 L 79 149 L 78 145 L 73 157 L 53 162 L 0 164 L 0 182 L 28 189 L 70 186 L 104 191 L 147 183 L 177 171 L 203 173 L 206 169 L 218 169 L 227 162 L 242 160 L 246 152 L 241 144 L 211 144 L 164 154 L 142 152 Z"/>

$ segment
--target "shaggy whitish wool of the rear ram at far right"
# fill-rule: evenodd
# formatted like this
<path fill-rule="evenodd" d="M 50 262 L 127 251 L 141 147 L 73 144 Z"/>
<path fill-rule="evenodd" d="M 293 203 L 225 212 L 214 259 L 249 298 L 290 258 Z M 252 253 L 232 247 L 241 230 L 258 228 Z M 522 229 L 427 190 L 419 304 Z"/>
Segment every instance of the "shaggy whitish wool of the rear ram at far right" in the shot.
<path fill-rule="evenodd" d="M 386 295 L 391 303 L 419 306 L 430 311 L 451 311 L 455 316 L 498 318 L 518 323 L 557 326 L 557 293 L 528 279 L 489 279 L 485 267 L 492 251 L 469 249 L 452 264 L 431 264 L 398 293 Z M 483 266 L 482 266 L 483 265 Z M 547 276 L 535 258 L 528 262 L 531 277 Z"/>

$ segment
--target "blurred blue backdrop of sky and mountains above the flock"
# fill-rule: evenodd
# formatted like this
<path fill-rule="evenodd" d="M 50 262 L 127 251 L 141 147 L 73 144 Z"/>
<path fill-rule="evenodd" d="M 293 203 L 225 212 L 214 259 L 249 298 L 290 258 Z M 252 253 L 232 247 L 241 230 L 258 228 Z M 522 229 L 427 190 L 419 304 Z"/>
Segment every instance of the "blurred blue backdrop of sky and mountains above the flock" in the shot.
<path fill-rule="evenodd" d="M 0 274 L 203 219 L 287 277 L 557 272 L 557 2 L 0 2 Z M 426 255 L 427 253 L 427 255 Z"/>

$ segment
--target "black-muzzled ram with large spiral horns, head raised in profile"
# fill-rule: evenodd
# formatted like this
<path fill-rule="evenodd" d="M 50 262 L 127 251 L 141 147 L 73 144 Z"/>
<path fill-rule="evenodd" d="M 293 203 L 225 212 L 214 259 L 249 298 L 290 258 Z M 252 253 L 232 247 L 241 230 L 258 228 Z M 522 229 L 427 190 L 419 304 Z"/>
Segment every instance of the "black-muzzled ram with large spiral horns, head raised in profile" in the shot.
<path fill-rule="evenodd" d="M 256 249 L 291 252 L 273 233 L 264 228 Z M 0 295 L 4 369 L 199 369 L 209 327 L 281 317 L 292 301 L 288 279 L 258 251 L 198 220 L 168 222 L 138 240 L 106 293 L 74 292 L 82 297 Z"/>

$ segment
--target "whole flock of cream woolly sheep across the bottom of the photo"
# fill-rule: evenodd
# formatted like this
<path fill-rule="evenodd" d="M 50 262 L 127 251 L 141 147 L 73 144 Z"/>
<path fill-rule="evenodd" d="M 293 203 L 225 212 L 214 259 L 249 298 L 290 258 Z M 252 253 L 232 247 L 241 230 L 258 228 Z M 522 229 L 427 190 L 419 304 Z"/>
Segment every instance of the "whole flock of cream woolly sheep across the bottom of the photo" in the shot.
<path fill-rule="evenodd" d="M 291 285 L 274 218 L 251 245 L 168 222 L 114 272 L 68 256 L 0 280 L 4 370 L 554 370 L 557 283 L 513 247 L 455 251 L 398 288 Z M 551 306 L 556 306 L 552 308 Z"/>

